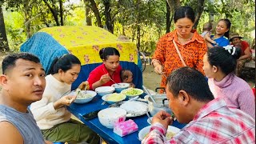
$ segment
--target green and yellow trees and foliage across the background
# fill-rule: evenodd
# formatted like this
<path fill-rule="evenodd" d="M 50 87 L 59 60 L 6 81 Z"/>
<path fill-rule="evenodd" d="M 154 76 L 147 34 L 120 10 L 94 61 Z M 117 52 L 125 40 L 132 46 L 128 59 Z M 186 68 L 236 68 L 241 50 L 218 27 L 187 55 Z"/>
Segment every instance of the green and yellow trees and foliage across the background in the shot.
<path fill-rule="evenodd" d="M 169 8 L 164 0 L 0 0 L 11 51 L 19 50 L 19 46 L 26 42 L 27 38 L 46 26 L 102 24 L 103 28 L 108 28 L 113 34 L 126 35 L 136 42 L 138 50 L 152 54 L 158 38 L 168 31 L 168 22 L 170 31 L 174 30 L 174 22 L 171 19 L 177 3 L 181 6 L 192 6 L 195 11 L 202 9 L 196 27 L 199 33 L 202 33 L 202 25 L 205 22 L 216 23 L 220 18 L 229 18 L 232 22 L 231 31 L 238 32 L 250 43 L 255 38 L 254 0 L 172 2 L 176 3 L 172 3 L 171 6 L 174 7 Z M 198 5 L 198 2 L 203 2 L 203 5 Z"/>

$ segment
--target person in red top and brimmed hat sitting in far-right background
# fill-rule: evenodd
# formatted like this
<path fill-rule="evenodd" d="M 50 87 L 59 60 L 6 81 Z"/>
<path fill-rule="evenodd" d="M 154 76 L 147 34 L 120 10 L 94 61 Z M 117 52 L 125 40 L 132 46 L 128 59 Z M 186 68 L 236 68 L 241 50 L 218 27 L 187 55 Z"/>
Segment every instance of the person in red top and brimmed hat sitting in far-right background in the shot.
<path fill-rule="evenodd" d="M 238 33 L 230 34 L 230 42 L 232 42 L 231 45 L 239 47 L 242 50 L 242 54 L 240 58 L 238 58 L 238 64 L 235 71 L 238 77 L 241 75 L 242 67 L 245 66 L 246 62 L 250 62 L 252 56 L 249 43 L 242 41 L 241 39 L 242 37 Z"/>

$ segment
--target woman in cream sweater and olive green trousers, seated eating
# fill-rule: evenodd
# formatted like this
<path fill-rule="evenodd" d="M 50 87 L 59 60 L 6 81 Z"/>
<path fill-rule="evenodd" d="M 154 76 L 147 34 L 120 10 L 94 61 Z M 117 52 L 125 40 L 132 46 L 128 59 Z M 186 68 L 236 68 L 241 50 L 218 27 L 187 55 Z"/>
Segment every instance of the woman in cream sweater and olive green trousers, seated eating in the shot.
<path fill-rule="evenodd" d="M 82 122 L 71 119 L 71 114 L 66 109 L 76 97 L 68 93 L 80 70 L 81 62 L 72 54 L 55 58 L 46 76 L 46 90 L 42 99 L 30 106 L 44 138 L 49 141 L 99 142 L 98 135 Z"/>

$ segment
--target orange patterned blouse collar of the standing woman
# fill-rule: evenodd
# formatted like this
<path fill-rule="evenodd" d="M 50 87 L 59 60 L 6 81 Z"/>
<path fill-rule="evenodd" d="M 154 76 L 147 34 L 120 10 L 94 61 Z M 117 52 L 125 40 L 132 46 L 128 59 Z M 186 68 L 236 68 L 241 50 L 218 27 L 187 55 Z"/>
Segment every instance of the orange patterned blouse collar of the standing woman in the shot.
<path fill-rule="evenodd" d="M 198 34 L 197 30 L 191 30 L 191 33 L 194 33 L 194 35 L 190 39 L 190 41 L 186 43 L 194 42 L 194 41 L 198 41 L 199 43 L 205 42 L 202 36 Z M 167 41 L 172 41 L 173 39 L 175 42 L 178 42 L 177 30 L 174 30 L 174 32 L 169 35 L 169 38 L 167 38 Z"/>

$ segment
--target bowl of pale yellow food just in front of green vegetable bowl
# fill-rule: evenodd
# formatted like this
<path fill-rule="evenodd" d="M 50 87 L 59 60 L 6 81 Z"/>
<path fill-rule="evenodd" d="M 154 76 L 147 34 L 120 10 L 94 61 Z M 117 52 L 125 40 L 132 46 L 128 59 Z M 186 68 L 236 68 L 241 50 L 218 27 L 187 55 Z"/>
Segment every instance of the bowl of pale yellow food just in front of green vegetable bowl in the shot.
<path fill-rule="evenodd" d="M 102 96 L 102 100 L 108 102 L 109 104 L 113 104 L 114 102 L 121 102 L 126 99 L 126 94 L 106 94 Z"/>

